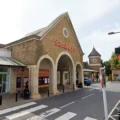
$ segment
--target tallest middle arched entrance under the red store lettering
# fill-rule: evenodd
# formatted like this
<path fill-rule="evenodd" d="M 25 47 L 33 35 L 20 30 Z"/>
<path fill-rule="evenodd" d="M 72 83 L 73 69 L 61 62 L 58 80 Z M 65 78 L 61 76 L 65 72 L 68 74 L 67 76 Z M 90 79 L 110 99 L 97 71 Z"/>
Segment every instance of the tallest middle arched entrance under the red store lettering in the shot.
<path fill-rule="evenodd" d="M 75 84 L 74 64 L 71 55 L 68 52 L 62 52 L 56 60 L 57 70 L 57 88 L 60 91 L 63 85 L 66 88 L 73 88 Z"/>

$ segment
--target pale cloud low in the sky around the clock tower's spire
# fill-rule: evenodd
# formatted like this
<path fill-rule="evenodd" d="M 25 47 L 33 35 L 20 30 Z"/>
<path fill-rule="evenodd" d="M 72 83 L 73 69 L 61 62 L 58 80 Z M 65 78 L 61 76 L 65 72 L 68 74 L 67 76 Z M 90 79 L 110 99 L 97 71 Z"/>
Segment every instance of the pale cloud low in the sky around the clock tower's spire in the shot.
<path fill-rule="evenodd" d="M 117 26 L 119 24 L 117 23 Z M 88 60 L 88 55 L 94 47 L 102 55 L 103 60 L 109 60 L 115 47 L 120 46 L 120 34 L 108 35 L 110 31 L 120 31 L 120 27 L 111 28 L 106 31 L 94 31 L 90 36 L 84 37 L 81 41 L 84 61 Z M 87 48 L 87 49 L 86 49 Z"/>

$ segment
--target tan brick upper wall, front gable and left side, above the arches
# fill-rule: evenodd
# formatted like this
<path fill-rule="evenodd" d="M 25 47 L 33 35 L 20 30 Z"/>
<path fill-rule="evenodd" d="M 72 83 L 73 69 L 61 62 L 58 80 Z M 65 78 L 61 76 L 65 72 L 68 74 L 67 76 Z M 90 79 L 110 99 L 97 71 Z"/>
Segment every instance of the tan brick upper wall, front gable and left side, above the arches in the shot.
<path fill-rule="evenodd" d="M 63 28 L 68 29 L 68 38 L 63 36 Z M 75 48 L 75 52 L 66 50 L 62 47 L 54 45 L 54 40 L 58 40 Z M 9 48 L 9 47 L 6 47 Z M 56 61 L 60 52 L 68 51 L 72 56 L 74 63 L 83 62 L 83 53 L 79 48 L 78 41 L 73 33 L 73 28 L 69 18 L 64 17 L 50 32 L 48 32 L 42 40 L 30 40 L 20 44 L 16 44 L 11 48 L 12 58 L 20 61 L 25 65 L 37 64 L 42 55 L 48 54 L 53 61 Z"/>

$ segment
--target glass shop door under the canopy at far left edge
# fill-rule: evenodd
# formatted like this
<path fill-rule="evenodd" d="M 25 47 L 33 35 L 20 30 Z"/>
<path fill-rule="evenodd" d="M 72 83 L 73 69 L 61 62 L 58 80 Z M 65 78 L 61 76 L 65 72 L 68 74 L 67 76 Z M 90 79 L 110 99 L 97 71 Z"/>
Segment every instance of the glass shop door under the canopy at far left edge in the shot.
<path fill-rule="evenodd" d="M 0 74 L 0 93 L 9 91 L 9 79 L 7 74 Z"/>

